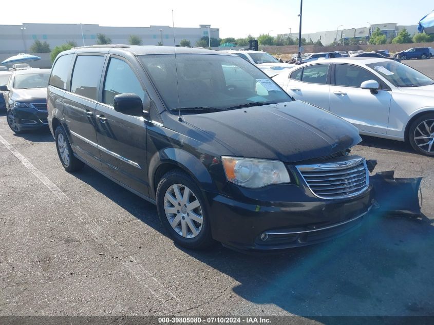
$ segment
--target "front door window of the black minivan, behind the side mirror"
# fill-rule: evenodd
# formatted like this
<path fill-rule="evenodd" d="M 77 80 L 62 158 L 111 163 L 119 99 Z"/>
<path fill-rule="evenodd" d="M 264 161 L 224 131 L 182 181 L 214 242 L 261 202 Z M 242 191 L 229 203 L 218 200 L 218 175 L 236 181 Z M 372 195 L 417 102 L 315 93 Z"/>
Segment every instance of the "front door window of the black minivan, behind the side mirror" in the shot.
<path fill-rule="evenodd" d="M 121 93 L 135 93 L 144 101 L 145 92 L 130 66 L 111 58 L 104 82 L 103 103 L 113 106 L 115 96 Z"/>

